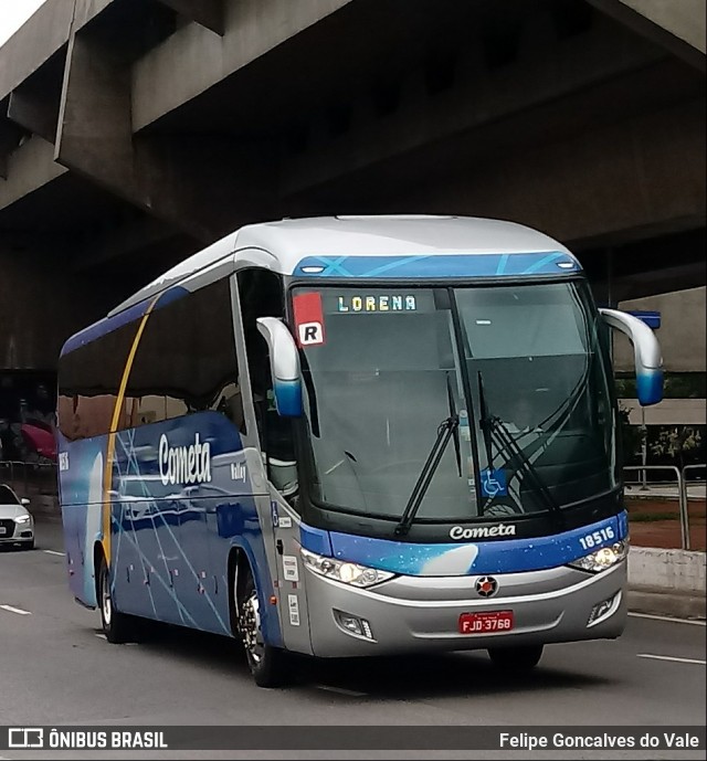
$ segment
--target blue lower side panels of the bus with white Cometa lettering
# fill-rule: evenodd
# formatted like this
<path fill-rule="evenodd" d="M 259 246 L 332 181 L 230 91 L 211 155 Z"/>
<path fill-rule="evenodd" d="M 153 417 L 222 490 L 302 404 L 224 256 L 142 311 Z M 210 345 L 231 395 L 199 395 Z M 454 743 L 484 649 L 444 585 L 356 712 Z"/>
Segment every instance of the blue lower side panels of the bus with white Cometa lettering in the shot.
<path fill-rule="evenodd" d="M 105 436 L 67 444 L 61 474 L 72 591 L 95 605 L 93 546 L 101 540 Z M 198 412 L 116 434 L 108 492 L 112 572 L 118 610 L 231 634 L 228 559 L 242 548 L 267 600 L 272 579 L 246 452 L 223 415 Z M 70 569 L 71 570 L 71 569 Z M 278 643 L 276 609 L 263 604 L 265 636 Z"/>

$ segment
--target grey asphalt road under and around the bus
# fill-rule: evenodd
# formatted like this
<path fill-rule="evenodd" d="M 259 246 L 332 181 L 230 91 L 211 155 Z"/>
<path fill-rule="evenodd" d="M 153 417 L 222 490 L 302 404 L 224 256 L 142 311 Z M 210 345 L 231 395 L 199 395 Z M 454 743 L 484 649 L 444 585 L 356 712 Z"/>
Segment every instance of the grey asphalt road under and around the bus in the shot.
<path fill-rule="evenodd" d="M 34 551 L 0 550 L 0 726 L 352 725 L 705 726 L 705 627 L 632 616 L 614 642 L 552 645 L 536 672 L 500 677 L 485 653 L 303 660 L 264 690 L 225 638 L 171 628 L 109 645 L 68 593 L 61 525 Z M 361 729 L 361 732 L 365 732 Z M 402 731 L 404 729 L 393 729 Z M 82 752 L 78 758 L 143 758 Z M 152 751 L 149 758 L 510 758 L 508 751 Z M 699 758 L 695 751 L 523 752 L 515 758 Z M 76 751 L 0 751 L 0 759 Z"/>

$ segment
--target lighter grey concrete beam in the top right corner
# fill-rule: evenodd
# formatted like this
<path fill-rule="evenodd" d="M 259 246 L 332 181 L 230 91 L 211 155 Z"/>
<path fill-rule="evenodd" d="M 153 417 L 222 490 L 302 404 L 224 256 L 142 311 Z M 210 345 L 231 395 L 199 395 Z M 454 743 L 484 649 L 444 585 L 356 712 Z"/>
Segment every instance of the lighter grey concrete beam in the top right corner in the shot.
<path fill-rule="evenodd" d="M 633 31 L 705 71 L 705 0 L 589 0 Z"/>

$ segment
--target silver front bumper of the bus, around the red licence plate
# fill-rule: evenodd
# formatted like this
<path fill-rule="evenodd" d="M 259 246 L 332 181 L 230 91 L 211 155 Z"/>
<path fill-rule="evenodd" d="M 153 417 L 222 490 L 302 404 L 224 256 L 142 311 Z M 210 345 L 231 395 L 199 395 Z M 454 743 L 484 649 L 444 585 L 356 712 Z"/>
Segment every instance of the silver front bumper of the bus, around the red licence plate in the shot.
<path fill-rule="evenodd" d="M 568 567 L 495 575 L 484 599 L 479 577 L 398 577 L 368 590 L 307 572 L 312 647 L 349 657 L 410 651 L 462 651 L 618 637 L 626 621 L 626 561 L 598 574 Z M 606 610 L 590 623 L 597 605 Z M 460 634 L 462 613 L 513 611 L 514 628 Z M 338 612 L 338 613 L 337 613 Z M 372 638 L 347 632 L 340 614 L 370 626 Z"/>

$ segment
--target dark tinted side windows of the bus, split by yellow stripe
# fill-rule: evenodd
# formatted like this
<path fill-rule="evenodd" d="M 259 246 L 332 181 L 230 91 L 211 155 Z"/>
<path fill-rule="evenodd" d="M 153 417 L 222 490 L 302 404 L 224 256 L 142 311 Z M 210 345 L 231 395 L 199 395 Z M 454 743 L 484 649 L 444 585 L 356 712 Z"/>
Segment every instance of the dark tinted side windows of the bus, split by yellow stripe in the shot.
<path fill-rule="evenodd" d="M 118 430 L 217 410 L 243 431 L 231 315 L 228 281 L 177 297 L 170 293 L 157 303 L 133 361 Z M 59 419 L 68 440 L 109 432 L 139 324 L 106 334 L 60 361 Z"/>

